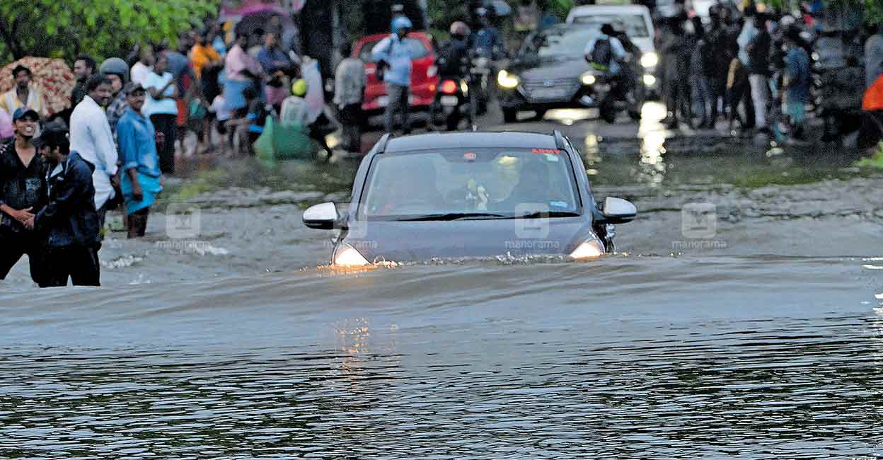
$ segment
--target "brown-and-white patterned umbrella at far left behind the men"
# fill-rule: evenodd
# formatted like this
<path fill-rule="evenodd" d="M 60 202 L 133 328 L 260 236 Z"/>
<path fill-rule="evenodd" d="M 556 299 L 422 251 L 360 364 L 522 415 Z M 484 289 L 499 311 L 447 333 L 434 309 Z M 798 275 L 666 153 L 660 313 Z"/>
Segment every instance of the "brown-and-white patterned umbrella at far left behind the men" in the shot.
<path fill-rule="evenodd" d="M 40 89 L 49 102 L 49 113 L 57 113 L 71 103 L 71 92 L 77 81 L 71 68 L 62 59 L 49 57 L 22 57 L 0 69 L 0 94 L 15 87 L 12 69 L 24 65 L 34 74 L 33 85 Z"/>

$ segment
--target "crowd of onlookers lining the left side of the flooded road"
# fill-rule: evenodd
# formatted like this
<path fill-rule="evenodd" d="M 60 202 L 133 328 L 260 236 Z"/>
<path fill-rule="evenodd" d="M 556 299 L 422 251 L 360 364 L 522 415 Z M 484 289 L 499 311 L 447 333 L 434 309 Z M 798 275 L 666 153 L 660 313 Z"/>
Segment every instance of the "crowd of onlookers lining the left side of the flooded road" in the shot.
<path fill-rule="evenodd" d="M 79 56 L 70 108 L 59 113 L 50 113 L 34 73 L 16 66 L 15 86 L 0 94 L 0 279 L 27 255 L 41 287 L 69 279 L 98 285 L 105 216 L 121 208 L 127 237 L 145 235 L 176 156 L 188 155 L 188 132 L 199 142 L 189 155 L 253 155 L 274 117 L 328 148 L 321 124 L 336 112 L 350 125 L 344 147 L 360 148 L 352 125 L 361 123 L 364 64 L 344 60 L 338 110 L 321 102 L 317 109 L 308 99 L 312 93 L 322 101 L 321 83 L 302 78 L 311 65 L 318 72 L 317 64 L 283 50 L 275 25 L 225 34 L 211 24 L 181 34 L 176 48 L 139 46 L 100 65 Z"/>

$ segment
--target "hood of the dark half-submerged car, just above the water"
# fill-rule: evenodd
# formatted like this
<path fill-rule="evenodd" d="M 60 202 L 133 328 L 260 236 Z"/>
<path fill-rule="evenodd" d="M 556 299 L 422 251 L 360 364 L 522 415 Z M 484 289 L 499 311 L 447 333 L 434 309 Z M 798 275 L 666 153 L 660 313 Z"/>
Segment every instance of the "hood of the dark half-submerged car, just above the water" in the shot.
<path fill-rule="evenodd" d="M 547 225 L 544 225 L 547 222 Z M 420 261 L 562 254 L 597 239 L 583 216 L 548 220 L 386 222 L 357 225 L 343 238 L 367 260 Z"/>

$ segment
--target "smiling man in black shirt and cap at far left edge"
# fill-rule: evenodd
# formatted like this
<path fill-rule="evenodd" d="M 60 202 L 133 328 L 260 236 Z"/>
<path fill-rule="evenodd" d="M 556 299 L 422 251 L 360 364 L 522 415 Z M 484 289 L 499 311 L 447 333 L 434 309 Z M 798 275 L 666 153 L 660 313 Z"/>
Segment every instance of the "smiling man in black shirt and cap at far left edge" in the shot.
<path fill-rule="evenodd" d="M 27 254 L 31 279 L 42 283 L 41 240 L 27 224 L 46 197 L 46 164 L 34 146 L 40 116 L 19 107 L 12 117 L 15 138 L 0 145 L 0 280 Z"/>

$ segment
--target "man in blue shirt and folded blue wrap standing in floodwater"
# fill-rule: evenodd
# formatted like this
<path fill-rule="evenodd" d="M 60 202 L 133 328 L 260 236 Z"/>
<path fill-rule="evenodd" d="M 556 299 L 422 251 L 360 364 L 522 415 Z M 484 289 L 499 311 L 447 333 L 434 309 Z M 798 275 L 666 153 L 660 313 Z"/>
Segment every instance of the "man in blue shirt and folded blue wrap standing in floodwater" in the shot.
<path fill-rule="evenodd" d="M 147 91 L 139 83 L 126 88 L 129 107 L 117 123 L 119 153 L 125 174 L 120 183 L 128 215 L 128 238 L 140 238 L 147 229 L 147 215 L 156 195 L 162 191 L 159 162 L 156 152 L 156 132 L 150 119 L 141 115 Z"/>

